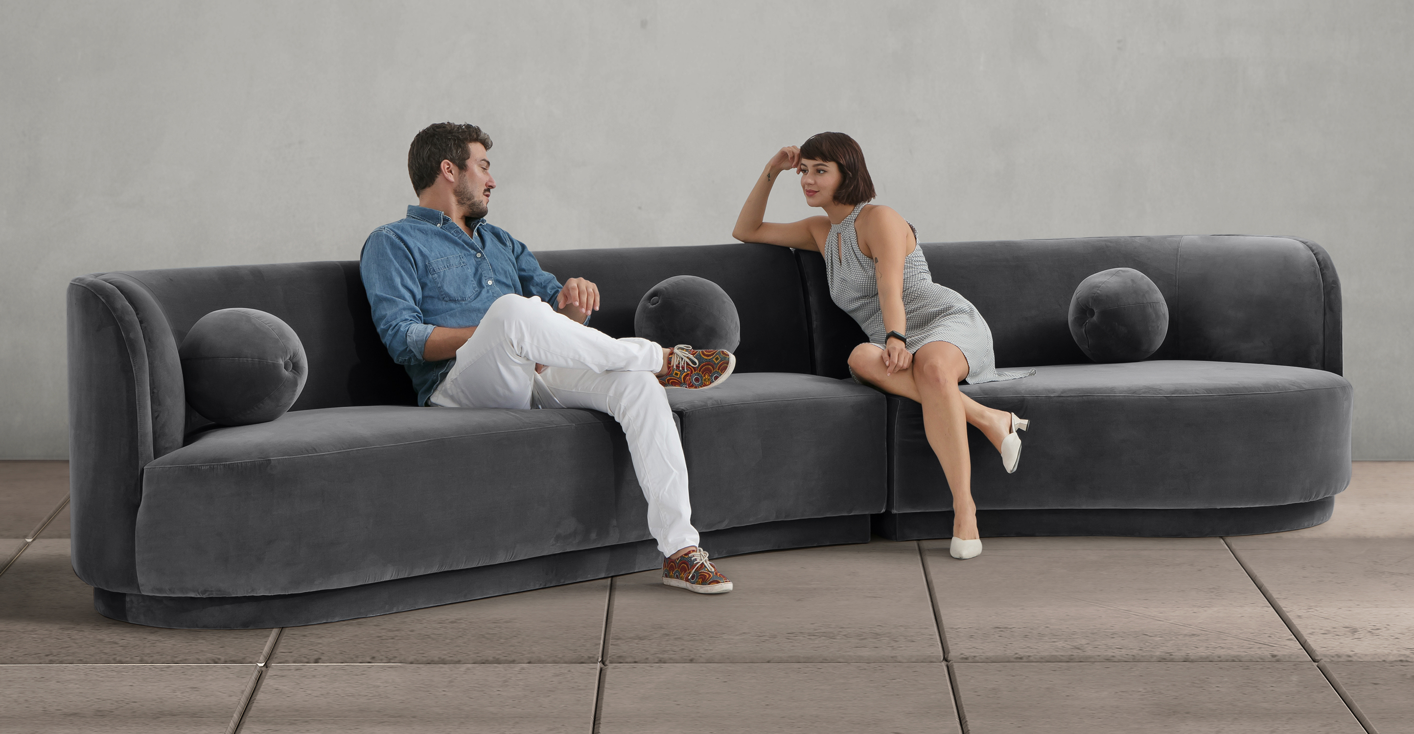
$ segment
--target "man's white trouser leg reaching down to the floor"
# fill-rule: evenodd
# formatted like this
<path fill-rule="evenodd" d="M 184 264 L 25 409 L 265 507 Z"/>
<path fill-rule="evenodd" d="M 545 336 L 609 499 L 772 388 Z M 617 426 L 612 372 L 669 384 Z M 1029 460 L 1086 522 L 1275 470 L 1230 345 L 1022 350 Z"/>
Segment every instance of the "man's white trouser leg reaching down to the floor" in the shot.
<path fill-rule="evenodd" d="M 543 362 L 542 362 L 543 363 Z M 687 498 L 687 461 L 673 424 L 667 393 L 652 372 L 602 372 L 549 368 L 540 378 L 554 402 L 614 416 L 624 427 L 633 474 L 648 499 L 648 530 L 658 550 L 670 556 L 697 544 Z"/>

